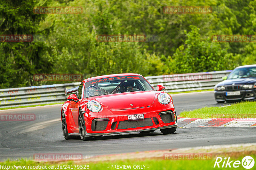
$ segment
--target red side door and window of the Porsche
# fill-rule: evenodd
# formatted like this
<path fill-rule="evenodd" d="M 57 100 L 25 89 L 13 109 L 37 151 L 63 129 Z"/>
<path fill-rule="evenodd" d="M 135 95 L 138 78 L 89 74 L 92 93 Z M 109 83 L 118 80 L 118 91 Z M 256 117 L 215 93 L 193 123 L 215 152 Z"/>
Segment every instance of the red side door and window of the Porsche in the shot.
<path fill-rule="evenodd" d="M 80 86 L 78 87 L 78 90 L 76 92 L 76 96 L 78 98 L 78 102 L 74 102 L 71 101 L 70 102 L 70 108 L 71 108 L 71 113 L 76 125 L 76 129 L 78 129 L 78 114 L 79 114 L 79 110 L 78 107 L 80 105 L 80 101 L 81 101 L 81 96 L 82 96 L 82 89 L 83 89 L 83 82 L 80 84 Z"/>

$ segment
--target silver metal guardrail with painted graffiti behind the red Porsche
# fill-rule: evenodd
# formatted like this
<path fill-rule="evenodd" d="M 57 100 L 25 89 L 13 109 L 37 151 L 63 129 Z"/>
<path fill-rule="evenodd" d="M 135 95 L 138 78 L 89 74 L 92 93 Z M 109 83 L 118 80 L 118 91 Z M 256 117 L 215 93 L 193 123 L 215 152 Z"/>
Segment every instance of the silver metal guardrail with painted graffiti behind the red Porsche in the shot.
<path fill-rule="evenodd" d="M 172 74 L 145 77 L 156 89 L 157 84 L 165 86 L 165 92 L 213 89 L 232 70 L 203 73 Z M 0 89 L 0 108 L 32 106 L 59 103 L 67 100 L 65 89 L 76 87 L 80 82 Z"/>

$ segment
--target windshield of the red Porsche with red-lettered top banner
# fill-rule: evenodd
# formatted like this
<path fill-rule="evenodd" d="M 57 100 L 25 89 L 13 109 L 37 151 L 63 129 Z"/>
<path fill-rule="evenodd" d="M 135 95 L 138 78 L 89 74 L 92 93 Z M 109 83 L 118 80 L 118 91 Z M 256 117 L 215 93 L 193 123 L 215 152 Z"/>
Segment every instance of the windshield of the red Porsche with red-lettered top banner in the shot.
<path fill-rule="evenodd" d="M 108 77 L 88 81 L 85 84 L 84 96 L 100 96 L 115 93 L 154 90 L 145 78 L 138 77 Z"/>

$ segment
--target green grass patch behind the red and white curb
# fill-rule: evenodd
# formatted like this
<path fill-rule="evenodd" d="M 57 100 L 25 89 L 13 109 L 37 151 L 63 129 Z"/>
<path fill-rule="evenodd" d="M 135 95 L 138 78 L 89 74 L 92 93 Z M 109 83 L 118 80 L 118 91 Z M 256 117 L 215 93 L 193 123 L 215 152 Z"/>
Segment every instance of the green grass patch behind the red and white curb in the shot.
<path fill-rule="evenodd" d="M 256 102 L 241 102 L 227 107 L 205 107 L 180 113 L 190 118 L 255 118 Z"/>

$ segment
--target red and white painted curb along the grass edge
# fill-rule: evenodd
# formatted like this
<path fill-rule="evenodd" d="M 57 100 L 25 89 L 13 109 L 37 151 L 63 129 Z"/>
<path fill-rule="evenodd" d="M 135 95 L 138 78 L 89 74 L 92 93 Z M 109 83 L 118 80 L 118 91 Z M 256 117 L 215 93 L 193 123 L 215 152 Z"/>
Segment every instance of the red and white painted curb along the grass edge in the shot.
<path fill-rule="evenodd" d="M 249 127 L 256 126 L 256 118 L 189 118 L 177 117 L 178 127 Z"/>

